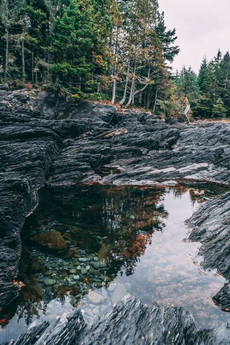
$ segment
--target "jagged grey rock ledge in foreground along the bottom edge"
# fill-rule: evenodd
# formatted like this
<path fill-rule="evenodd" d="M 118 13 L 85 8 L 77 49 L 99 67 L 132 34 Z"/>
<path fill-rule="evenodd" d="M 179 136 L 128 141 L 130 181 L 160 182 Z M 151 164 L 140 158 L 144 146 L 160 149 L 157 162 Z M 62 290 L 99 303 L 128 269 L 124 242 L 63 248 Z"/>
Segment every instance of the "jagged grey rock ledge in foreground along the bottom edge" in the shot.
<path fill-rule="evenodd" d="M 80 310 L 73 315 L 41 324 L 9 344 L 228 344 L 230 326 L 197 331 L 193 317 L 181 307 L 158 303 L 143 305 L 125 297 L 86 325 Z"/>

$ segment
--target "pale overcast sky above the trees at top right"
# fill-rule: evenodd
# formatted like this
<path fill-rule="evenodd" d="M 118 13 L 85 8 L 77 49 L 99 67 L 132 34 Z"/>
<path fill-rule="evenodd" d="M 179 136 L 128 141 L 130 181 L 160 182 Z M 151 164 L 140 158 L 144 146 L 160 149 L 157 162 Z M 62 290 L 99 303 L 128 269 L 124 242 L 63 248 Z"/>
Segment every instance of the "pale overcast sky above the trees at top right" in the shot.
<path fill-rule="evenodd" d="M 158 0 L 168 29 L 177 29 L 181 52 L 173 63 L 198 72 L 202 57 L 230 50 L 230 0 Z"/>

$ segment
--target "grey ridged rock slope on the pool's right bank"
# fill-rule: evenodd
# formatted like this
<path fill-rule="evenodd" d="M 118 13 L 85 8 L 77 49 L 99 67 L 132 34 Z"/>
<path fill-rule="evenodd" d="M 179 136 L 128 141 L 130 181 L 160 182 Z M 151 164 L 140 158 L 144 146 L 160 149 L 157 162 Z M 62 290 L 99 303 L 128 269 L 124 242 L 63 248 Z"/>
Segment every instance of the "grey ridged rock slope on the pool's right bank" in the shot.
<path fill-rule="evenodd" d="M 204 269 L 217 268 L 217 272 L 230 279 L 230 192 L 203 204 L 187 221 L 193 229 L 189 239 L 201 242 Z M 221 308 L 230 310 L 230 285 L 214 296 Z"/>

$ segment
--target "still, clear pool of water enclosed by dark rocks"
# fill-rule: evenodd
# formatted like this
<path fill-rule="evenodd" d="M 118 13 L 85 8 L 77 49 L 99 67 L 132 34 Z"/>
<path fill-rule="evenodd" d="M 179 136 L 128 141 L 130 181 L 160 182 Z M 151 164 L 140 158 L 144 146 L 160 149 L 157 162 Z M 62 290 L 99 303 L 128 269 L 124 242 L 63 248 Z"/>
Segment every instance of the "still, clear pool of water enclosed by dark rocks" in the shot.
<path fill-rule="evenodd" d="M 212 297 L 225 279 L 202 269 L 184 221 L 223 190 L 197 185 L 82 185 L 44 190 L 22 231 L 19 297 L 0 314 L 0 342 L 81 308 L 93 322 L 127 294 L 191 312 L 197 327 L 229 321 Z"/>

